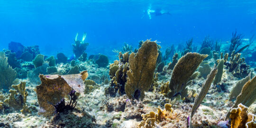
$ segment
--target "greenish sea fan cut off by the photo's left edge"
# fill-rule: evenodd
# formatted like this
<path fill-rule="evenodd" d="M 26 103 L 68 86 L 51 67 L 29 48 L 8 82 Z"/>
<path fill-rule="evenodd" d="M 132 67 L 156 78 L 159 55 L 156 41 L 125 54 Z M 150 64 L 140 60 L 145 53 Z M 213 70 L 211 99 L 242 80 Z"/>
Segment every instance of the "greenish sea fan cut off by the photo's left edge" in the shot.
<path fill-rule="evenodd" d="M 0 52 L 0 89 L 9 89 L 17 73 L 9 66 L 4 52 Z"/>

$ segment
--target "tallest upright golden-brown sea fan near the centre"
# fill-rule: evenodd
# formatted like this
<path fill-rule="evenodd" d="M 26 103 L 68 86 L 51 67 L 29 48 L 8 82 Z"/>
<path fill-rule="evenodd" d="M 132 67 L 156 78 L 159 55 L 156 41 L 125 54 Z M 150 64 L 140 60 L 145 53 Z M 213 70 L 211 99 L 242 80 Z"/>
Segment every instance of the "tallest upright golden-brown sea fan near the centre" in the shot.
<path fill-rule="evenodd" d="M 156 59 L 158 56 L 157 44 L 146 40 L 138 52 L 129 56 L 129 70 L 125 92 L 131 99 L 143 100 L 145 91 L 151 87 Z"/>

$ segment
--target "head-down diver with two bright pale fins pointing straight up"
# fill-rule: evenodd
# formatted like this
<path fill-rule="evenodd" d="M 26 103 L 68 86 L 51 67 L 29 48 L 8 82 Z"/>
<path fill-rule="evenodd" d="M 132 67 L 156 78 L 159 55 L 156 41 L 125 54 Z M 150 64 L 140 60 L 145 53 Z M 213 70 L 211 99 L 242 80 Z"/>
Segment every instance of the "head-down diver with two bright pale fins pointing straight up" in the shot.
<path fill-rule="evenodd" d="M 77 40 L 78 33 L 76 34 L 74 44 L 73 46 L 73 53 L 78 58 L 82 55 L 82 53 L 86 50 L 86 47 L 89 45 L 89 43 L 84 43 L 84 39 L 86 37 L 86 33 L 83 34 L 82 41 Z"/>

